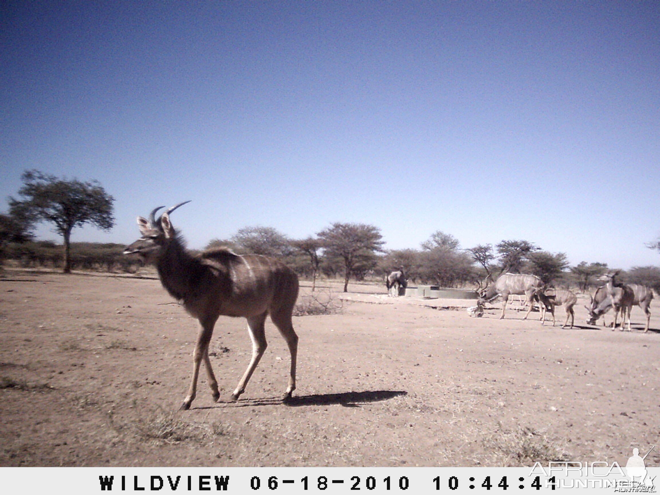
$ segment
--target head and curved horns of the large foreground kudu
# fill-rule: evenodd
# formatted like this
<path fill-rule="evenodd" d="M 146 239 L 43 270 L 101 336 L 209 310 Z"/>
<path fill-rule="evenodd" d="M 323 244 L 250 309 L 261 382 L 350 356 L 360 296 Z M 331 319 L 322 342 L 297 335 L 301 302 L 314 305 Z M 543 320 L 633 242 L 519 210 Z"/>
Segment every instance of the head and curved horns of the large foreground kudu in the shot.
<path fill-rule="evenodd" d="M 173 206 L 160 215 L 158 220 L 155 218 L 156 211 L 164 207 L 154 208 L 148 219 L 138 216 L 137 226 L 140 229 L 142 237 L 130 246 L 126 246 L 123 253 L 137 254 L 145 263 L 154 263 L 167 245 L 176 239 L 176 230 L 172 226 L 172 222 L 170 222 L 170 213 L 189 202 L 183 201 L 183 203 Z"/>

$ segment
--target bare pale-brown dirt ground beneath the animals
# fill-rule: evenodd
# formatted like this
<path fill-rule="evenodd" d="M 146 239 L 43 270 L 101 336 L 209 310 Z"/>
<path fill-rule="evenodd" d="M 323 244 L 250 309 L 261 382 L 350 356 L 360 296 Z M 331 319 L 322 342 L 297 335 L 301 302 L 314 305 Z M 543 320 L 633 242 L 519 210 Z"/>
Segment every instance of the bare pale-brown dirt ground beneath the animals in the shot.
<path fill-rule="evenodd" d="M 470 301 L 349 289 L 341 314 L 294 318 L 291 403 L 288 350 L 270 321 L 269 348 L 231 401 L 251 347 L 246 321 L 223 317 L 211 343 L 220 401 L 201 374 L 192 409 L 178 412 L 197 327 L 160 282 L 3 272 L 0 465 L 625 463 L 660 442 L 658 300 L 649 333 L 637 307 L 633 331 L 613 332 L 583 323 L 583 300 L 579 327 L 562 330 L 537 312 L 523 321 L 515 303 L 504 320 L 500 303 L 472 318 Z M 660 465 L 660 452 L 646 463 Z"/>

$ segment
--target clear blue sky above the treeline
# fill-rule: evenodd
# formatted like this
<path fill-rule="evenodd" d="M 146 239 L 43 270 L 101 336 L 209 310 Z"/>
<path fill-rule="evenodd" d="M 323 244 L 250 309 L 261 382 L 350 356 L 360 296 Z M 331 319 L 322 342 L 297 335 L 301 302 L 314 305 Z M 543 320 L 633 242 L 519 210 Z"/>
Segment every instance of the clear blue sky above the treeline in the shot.
<path fill-rule="evenodd" d="M 191 248 L 339 221 L 660 265 L 655 1 L 5 1 L 0 26 L 0 211 L 24 170 L 96 179 L 116 227 L 74 241 L 192 199 Z"/>

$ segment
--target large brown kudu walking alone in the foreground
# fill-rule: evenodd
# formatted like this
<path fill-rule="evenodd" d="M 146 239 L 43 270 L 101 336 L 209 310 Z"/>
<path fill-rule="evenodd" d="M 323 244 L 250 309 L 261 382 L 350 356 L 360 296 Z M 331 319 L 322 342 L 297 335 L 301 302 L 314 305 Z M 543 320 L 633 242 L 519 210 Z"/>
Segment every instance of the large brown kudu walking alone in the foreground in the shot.
<path fill-rule="evenodd" d="M 149 220 L 138 216 L 142 237 L 124 249 L 125 254 L 137 253 L 145 262 L 156 265 L 164 288 L 199 320 L 193 351 L 193 378 L 181 409 L 189 409 L 195 399 L 202 361 L 207 369 L 213 399 L 220 398 L 209 359 L 209 342 L 220 315 L 247 318 L 252 341 L 252 358 L 232 398 L 238 399 L 245 391 L 266 350 L 264 323 L 270 314 L 291 354 L 290 376 L 284 394 L 284 399 L 289 399 L 296 389 L 298 335 L 293 329 L 291 314 L 298 298 L 298 277 L 281 261 L 265 256 L 236 255 L 224 248 L 192 255 L 170 222 L 170 214 L 185 203 L 168 209 L 158 220 L 154 215 L 162 207 L 154 209 Z"/>

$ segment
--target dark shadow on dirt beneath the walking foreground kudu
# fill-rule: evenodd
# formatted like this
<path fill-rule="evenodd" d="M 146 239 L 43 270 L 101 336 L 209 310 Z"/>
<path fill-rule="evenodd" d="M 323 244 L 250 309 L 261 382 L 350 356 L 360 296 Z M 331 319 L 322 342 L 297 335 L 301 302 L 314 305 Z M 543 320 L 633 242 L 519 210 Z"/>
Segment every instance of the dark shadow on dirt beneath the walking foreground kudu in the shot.
<path fill-rule="evenodd" d="M 360 407 L 360 404 L 387 401 L 399 395 L 408 395 L 403 390 L 374 390 L 364 392 L 319 393 L 312 395 L 294 395 L 284 401 L 282 397 L 261 397 L 259 399 L 239 399 L 238 401 L 218 401 L 224 407 L 254 407 L 283 404 L 289 407 L 327 406 L 338 404 L 343 407 Z M 206 408 L 193 408 L 206 409 Z"/>

